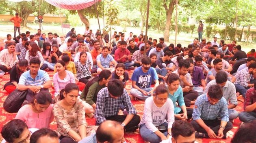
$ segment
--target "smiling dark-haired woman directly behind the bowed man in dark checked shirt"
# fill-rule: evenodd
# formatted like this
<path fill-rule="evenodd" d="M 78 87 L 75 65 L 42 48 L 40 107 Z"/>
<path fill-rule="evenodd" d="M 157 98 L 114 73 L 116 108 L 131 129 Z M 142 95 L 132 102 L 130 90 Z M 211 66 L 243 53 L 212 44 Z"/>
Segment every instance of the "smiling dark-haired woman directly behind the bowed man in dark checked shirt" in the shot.
<path fill-rule="evenodd" d="M 111 79 L 118 79 L 122 81 L 125 88 L 126 82 L 129 80 L 129 74 L 127 71 L 125 71 L 125 66 L 123 63 L 117 63 L 115 71 L 112 73 Z"/>

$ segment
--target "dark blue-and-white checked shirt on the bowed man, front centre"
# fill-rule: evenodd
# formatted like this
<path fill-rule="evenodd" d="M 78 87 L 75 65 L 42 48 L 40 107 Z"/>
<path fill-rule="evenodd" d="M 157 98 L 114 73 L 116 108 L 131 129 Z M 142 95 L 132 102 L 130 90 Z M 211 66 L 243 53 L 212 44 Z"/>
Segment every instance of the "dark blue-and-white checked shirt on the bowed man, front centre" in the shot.
<path fill-rule="evenodd" d="M 128 114 L 137 114 L 125 89 L 120 97 L 114 99 L 110 96 L 107 87 L 102 88 L 98 93 L 96 102 L 96 121 L 100 124 L 105 121 L 106 118 L 117 115 L 122 104 L 128 111 Z"/>

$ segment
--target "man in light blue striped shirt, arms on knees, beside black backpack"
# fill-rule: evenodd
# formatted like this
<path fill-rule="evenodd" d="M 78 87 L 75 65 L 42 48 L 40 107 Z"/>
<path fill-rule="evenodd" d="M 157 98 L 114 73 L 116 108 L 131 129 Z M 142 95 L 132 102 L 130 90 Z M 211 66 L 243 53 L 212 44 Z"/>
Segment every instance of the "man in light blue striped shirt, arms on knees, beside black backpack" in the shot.
<path fill-rule="evenodd" d="M 17 89 L 20 91 L 28 90 L 28 94 L 24 103 L 30 103 L 34 94 L 40 90 L 45 90 L 52 87 L 52 82 L 46 71 L 39 69 L 40 60 L 37 57 L 32 57 L 29 61 L 30 70 L 25 71 L 19 80 Z"/>

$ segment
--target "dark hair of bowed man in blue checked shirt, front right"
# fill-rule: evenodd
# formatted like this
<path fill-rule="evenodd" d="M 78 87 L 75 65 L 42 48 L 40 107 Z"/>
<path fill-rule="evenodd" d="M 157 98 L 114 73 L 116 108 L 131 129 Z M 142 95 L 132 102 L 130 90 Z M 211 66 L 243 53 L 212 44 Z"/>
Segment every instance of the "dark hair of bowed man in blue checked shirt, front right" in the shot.
<path fill-rule="evenodd" d="M 212 99 L 221 99 L 223 97 L 223 89 L 219 84 L 211 85 L 208 89 L 208 96 Z"/>

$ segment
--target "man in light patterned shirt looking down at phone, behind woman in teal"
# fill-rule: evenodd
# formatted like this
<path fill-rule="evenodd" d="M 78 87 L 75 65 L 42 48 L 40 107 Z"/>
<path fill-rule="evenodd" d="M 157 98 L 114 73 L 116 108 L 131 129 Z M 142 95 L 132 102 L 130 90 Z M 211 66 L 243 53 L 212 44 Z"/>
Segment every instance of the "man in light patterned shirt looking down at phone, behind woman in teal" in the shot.
<path fill-rule="evenodd" d="M 180 77 L 180 86 L 184 96 L 185 105 L 189 107 L 195 103 L 195 99 L 198 97 L 198 92 L 193 90 L 192 78 L 189 74 L 190 62 L 188 60 L 181 59 L 179 61 L 179 68 L 174 71 Z"/>

